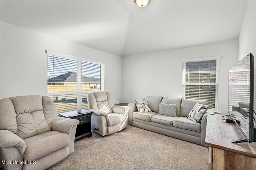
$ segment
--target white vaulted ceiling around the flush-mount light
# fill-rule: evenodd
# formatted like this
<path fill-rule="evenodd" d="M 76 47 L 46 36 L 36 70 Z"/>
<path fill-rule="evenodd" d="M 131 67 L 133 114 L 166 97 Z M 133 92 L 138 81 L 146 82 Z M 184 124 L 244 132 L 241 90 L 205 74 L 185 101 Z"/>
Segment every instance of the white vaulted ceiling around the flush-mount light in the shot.
<path fill-rule="evenodd" d="M 0 0 L 0 21 L 129 56 L 238 38 L 247 0 Z"/>

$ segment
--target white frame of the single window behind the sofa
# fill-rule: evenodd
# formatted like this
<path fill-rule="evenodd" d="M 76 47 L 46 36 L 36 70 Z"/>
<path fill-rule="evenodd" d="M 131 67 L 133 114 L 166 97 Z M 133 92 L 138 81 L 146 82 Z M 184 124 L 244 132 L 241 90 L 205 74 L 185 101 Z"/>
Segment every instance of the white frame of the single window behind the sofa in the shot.
<path fill-rule="evenodd" d="M 198 61 L 211 61 L 216 60 L 216 82 L 210 82 L 211 76 L 209 76 L 209 82 L 186 82 L 186 69 L 184 69 L 184 64 L 187 62 L 198 62 Z M 214 57 L 201 57 L 201 58 L 194 58 L 194 59 L 183 59 L 182 60 L 182 97 L 185 98 L 186 96 L 186 85 L 206 85 L 211 88 L 211 86 L 216 86 L 216 95 L 215 95 L 215 108 L 213 110 L 218 111 L 218 102 L 219 102 L 219 62 L 220 62 L 220 56 L 214 56 Z M 206 71 L 207 72 L 207 71 Z M 212 72 L 209 72 L 210 75 Z M 188 98 L 190 99 L 190 98 Z"/>

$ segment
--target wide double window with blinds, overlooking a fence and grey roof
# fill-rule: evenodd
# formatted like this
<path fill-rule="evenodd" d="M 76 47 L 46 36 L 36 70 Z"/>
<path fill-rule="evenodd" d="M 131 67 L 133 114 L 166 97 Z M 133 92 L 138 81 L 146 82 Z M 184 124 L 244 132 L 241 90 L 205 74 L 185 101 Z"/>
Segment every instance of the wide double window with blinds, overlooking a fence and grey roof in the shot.
<path fill-rule="evenodd" d="M 57 113 L 88 109 L 88 93 L 104 91 L 104 64 L 75 58 L 47 55 L 47 93 Z"/>

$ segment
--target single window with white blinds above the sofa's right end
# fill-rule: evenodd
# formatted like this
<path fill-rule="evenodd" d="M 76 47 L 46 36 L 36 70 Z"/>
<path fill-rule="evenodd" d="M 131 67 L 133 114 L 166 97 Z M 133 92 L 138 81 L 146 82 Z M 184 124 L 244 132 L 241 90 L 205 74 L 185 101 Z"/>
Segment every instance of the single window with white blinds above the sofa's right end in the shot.
<path fill-rule="evenodd" d="M 183 60 L 182 97 L 207 100 L 218 109 L 219 57 Z"/>

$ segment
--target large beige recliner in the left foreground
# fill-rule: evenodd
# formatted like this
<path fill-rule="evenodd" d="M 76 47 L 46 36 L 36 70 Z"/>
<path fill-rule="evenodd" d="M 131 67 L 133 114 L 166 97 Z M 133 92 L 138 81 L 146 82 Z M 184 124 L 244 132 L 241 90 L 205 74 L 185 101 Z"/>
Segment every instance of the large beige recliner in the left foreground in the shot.
<path fill-rule="evenodd" d="M 58 163 L 74 152 L 78 123 L 76 119 L 56 117 L 54 103 L 48 96 L 0 100 L 2 168 L 43 170 Z"/>

